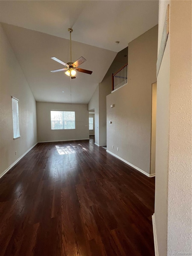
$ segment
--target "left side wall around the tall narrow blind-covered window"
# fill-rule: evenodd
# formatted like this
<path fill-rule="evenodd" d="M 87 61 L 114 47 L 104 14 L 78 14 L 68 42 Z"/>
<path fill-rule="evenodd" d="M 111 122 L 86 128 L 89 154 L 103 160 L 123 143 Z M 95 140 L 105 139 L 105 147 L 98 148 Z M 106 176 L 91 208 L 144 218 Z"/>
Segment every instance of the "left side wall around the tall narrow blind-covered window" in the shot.
<path fill-rule="evenodd" d="M 36 103 L 9 41 L 0 42 L 0 175 L 37 143 Z M 13 140 L 11 96 L 19 99 L 19 139 Z M 15 151 L 17 155 L 15 155 Z"/>

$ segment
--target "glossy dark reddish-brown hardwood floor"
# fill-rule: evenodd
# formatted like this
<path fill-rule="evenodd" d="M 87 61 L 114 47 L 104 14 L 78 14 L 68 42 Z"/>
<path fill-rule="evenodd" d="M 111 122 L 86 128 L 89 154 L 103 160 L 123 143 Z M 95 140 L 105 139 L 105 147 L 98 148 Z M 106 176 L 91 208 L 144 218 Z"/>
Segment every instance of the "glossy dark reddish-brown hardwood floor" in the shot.
<path fill-rule="evenodd" d="M 38 143 L 0 179 L 0 255 L 154 255 L 154 193 L 93 136 Z"/>

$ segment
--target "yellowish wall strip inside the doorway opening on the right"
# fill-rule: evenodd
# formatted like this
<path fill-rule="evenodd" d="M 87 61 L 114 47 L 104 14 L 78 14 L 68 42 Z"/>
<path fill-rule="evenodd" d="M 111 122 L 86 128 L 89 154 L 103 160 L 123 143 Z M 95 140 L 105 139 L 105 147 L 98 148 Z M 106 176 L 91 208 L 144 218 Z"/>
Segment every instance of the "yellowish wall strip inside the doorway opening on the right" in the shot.
<path fill-rule="evenodd" d="M 151 168 L 150 168 L 150 174 L 155 173 L 156 111 L 157 111 L 157 83 L 154 83 L 154 84 L 152 84 Z"/>

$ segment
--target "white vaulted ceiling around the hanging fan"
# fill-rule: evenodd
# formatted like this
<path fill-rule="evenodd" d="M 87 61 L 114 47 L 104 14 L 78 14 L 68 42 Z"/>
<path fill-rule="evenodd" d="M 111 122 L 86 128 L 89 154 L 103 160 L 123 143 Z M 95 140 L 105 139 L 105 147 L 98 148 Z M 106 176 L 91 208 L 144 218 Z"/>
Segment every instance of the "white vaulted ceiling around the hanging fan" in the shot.
<path fill-rule="evenodd" d="M 50 57 L 70 61 L 72 27 L 72 61 L 93 71 L 72 80 L 72 103 L 88 103 L 116 53 L 158 23 L 158 1 L 0 1 L 0 20 L 36 101 L 70 103 L 70 78 L 50 72 L 63 68 Z"/>

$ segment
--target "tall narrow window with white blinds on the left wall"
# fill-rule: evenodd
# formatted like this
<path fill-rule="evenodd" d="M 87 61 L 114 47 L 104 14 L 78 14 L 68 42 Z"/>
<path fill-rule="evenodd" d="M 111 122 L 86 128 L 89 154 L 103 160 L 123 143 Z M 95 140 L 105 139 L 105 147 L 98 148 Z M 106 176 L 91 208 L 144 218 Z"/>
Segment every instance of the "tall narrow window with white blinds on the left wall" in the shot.
<path fill-rule="evenodd" d="M 19 133 L 19 100 L 12 96 L 12 114 L 13 114 L 13 139 L 20 137 Z"/>

